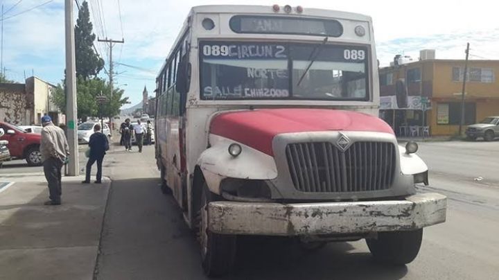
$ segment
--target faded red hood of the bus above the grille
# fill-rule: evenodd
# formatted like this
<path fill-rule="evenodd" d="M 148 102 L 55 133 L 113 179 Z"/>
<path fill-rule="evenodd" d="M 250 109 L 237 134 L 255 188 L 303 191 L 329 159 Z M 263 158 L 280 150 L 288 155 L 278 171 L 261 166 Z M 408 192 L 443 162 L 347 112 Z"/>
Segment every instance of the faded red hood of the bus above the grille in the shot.
<path fill-rule="evenodd" d="M 326 109 L 265 109 L 222 113 L 210 132 L 267 155 L 277 134 L 317 131 L 371 131 L 394 134 L 384 121 L 359 112 Z"/>

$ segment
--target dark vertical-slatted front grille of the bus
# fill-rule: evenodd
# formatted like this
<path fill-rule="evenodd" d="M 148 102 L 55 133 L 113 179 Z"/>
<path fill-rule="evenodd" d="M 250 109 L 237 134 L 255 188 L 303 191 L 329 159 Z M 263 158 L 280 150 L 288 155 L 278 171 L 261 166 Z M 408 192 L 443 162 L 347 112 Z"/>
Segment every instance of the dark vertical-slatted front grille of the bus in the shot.
<path fill-rule="evenodd" d="M 387 142 L 355 142 L 344 152 L 329 142 L 292 143 L 286 158 L 295 188 L 306 193 L 389 189 L 396 160 Z"/>

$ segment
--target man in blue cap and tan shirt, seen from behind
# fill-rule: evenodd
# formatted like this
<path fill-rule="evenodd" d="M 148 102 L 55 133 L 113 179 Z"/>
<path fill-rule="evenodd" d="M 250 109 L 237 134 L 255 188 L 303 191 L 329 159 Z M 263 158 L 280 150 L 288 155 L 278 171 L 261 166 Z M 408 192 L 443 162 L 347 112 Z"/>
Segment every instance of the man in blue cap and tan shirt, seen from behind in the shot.
<path fill-rule="evenodd" d="M 69 155 L 69 146 L 64 130 L 52 123 L 50 116 L 42 117 L 42 141 L 40 153 L 44 166 L 44 173 L 49 183 L 49 198 L 45 205 L 60 205 L 62 194 L 61 169 Z"/>

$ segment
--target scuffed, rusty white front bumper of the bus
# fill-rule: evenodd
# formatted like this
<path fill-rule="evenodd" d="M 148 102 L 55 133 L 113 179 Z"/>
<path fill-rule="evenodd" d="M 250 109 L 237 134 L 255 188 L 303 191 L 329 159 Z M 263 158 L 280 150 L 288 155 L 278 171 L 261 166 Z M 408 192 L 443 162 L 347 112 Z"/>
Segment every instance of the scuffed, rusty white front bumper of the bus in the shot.
<path fill-rule="evenodd" d="M 414 230 L 445 222 L 446 200 L 438 193 L 419 193 L 405 200 L 370 202 L 211 202 L 209 229 L 268 236 Z"/>

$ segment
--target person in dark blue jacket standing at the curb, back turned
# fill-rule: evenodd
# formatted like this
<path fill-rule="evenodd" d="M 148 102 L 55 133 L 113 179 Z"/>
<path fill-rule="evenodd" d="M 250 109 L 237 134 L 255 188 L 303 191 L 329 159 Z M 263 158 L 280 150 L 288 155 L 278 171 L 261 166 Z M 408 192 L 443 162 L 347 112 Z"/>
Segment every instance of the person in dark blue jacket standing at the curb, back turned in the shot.
<path fill-rule="evenodd" d="M 90 171 L 91 166 L 94 165 L 94 162 L 97 161 L 97 176 L 96 176 L 96 184 L 100 184 L 102 180 L 102 162 L 104 159 L 105 151 L 109 150 L 109 141 L 107 141 L 107 137 L 105 134 L 100 132 L 100 125 L 96 124 L 94 126 L 94 134 L 91 134 L 89 139 L 89 147 L 90 147 L 90 156 L 87 161 L 87 174 L 85 177 L 85 181 L 83 184 L 90 183 Z"/>

